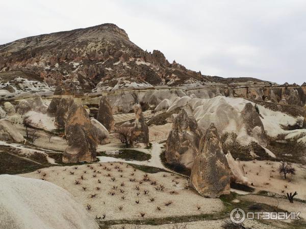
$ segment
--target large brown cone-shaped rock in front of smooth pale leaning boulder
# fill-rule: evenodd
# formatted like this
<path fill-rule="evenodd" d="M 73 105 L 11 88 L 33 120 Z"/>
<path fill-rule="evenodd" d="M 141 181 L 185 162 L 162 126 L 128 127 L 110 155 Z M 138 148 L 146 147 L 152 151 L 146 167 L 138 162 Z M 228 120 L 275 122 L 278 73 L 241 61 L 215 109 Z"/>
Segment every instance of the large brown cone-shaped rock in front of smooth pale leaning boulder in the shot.
<path fill-rule="evenodd" d="M 96 160 L 97 134 L 82 105 L 69 107 L 65 135 L 68 147 L 63 152 L 64 163 Z"/>

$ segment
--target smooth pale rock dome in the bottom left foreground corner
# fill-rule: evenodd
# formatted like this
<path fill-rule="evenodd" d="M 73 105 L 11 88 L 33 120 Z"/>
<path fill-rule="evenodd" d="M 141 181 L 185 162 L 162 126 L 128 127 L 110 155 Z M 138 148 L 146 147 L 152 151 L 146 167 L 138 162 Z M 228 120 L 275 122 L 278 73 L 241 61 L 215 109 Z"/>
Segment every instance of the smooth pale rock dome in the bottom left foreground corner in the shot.
<path fill-rule="evenodd" d="M 1 228 L 99 228 L 84 206 L 53 183 L 0 175 L 0 193 Z"/>

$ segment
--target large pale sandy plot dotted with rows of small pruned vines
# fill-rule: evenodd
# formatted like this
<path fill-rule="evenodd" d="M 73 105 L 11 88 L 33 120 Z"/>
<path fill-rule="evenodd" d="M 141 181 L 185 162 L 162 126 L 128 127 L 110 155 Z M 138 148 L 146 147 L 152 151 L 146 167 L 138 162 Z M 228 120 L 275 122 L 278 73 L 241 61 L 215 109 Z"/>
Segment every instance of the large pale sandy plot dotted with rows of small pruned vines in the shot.
<path fill-rule="evenodd" d="M 96 215 L 102 217 L 106 214 L 105 220 L 186 216 L 214 213 L 223 209 L 220 199 L 203 198 L 193 190 L 186 190 L 188 181 L 181 176 L 170 173 L 148 174 L 150 181 L 143 181 L 145 173 L 137 169 L 134 171 L 132 166 L 125 163 L 101 163 L 101 166 L 99 164 L 89 166 L 93 168 L 87 165 L 53 166 L 41 169 L 40 173 L 35 171 L 20 176 L 41 179 L 42 174 L 46 174 L 45 180 L 69 191 L 83 206 L 90 205 L 89 212 L 93 217 Z M 122 169 L 122 172 L 118 171 L 117 166 Z M 70 175 L 70 171 L 74 174 Z M 81 179 L 82 175 L 84 180 Z M 111 178 L 115 178 L 115 181 Z M 131 182 L 130 179 L 135 179 L 135 182 Z M 75 184 L 75 180 L 80 181 L 81 184 Z M 98 180 L 101 183 L 98 183 Z M 152 181 L 157 184 L 151 184 Z M 160 185 L 164 186 L 163 191 L 156 190 Z M 82 187 L 86 187 L 86 190 L 84 191 Z M 97 190 L 97 187 L 100 189 Z M 121 193 L 120 189 L 124 193 Z M 144 193 L 145 190 L 148 191 L 147 194 Z M 110 192 L 115 194 L 111 195 Z M 93 194 L 97 195 L 91 198 Z M 139 204 L 136 201 L 139 201 Z M 169 206 L 165 205 L 170 202 Z M 200 210 L 197 206 L 201 207 Z M 120 207 L 122 210 L 119 209 Z M 161 210 L 157 210 L 157 207 Z M 145 213 L 144 217 L 141 217 L 140 213 Z"/>

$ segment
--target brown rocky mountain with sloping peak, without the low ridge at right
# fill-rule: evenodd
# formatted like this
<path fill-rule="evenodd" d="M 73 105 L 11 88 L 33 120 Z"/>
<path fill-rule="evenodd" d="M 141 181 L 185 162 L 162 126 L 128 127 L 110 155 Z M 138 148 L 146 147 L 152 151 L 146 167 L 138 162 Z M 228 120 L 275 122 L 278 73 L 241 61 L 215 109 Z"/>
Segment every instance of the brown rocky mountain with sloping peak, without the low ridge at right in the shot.
<path fill-rule="evenodd" d="M 170 64 L 158 50 L 142 50 L 124 30 L 109 23 L 1 45 L 0 70 L 27 71 L 49 85 L 64 83 L 89 91 L 126 84 L 141 87 L 208 81 L 180 64 Z"/>

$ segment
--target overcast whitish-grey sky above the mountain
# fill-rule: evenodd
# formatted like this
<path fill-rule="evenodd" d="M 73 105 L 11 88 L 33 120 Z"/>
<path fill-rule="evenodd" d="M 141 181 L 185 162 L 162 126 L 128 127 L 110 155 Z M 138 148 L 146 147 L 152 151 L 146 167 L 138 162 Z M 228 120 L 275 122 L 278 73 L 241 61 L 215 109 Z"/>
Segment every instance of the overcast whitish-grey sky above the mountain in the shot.
<path fill-rule="evenodd" d="M 0 44 L 103 23 L 203 75 L 306 81 L 305 0 L 2 0 Z"/>

